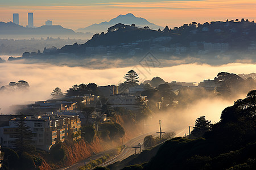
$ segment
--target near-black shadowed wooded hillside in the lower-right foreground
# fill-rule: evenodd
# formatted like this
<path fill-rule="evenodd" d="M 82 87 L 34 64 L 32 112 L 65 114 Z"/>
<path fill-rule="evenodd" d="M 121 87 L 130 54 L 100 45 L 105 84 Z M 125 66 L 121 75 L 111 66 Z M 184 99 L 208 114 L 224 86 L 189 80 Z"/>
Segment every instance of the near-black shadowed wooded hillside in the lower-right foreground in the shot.
<path fill-rule="evenodd" d="M 123 169 L 255 169 L 255 95 L 255 90 L 250 91 L 245 99 L 225 108 L 221 121 L 204 138 L 173 138 L 155 156 L 148 152 L 154 156 L 149 162 Z"/>

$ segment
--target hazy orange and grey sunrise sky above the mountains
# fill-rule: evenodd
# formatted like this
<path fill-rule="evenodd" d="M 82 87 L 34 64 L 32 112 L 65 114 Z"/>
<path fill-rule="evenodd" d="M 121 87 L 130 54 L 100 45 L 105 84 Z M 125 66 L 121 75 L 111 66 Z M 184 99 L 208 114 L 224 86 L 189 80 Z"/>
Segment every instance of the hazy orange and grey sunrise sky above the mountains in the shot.
<path fill-rule="evenodd" d="M 27 25 L 27 13 L 34 12 L 34 25 L 52 20 L 64 28 L 84 28 L 94 23 L 109 21 L 120 14 L 132 13 L 164 27 L 179 27 L 184 23 L 205 23 L 249 19 L 256 21 L 255 0 L 0 0 L 0 21 L 10 22 L 19 13 L 20 25 Z"/>

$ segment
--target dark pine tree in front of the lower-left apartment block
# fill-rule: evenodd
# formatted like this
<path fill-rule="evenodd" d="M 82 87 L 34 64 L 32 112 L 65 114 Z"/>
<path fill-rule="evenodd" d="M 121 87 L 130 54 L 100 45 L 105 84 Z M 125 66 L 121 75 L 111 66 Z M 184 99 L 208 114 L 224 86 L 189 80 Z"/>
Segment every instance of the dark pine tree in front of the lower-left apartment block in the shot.
<path fill-rule="evenodd" d="M 30 150 L 30 143 L 32 142 L 32 130 L 26 125 L 23 115 L 18 116 L 16 119 L 16 133 L 14 146 L 20 153 Z"/>

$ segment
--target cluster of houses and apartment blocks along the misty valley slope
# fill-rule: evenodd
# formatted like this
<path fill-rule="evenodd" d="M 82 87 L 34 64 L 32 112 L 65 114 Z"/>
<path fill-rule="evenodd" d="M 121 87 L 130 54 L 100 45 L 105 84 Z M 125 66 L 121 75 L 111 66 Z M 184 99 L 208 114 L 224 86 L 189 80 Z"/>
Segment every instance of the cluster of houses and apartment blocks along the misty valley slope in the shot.
<path fill-rule="evenodd" d="M 193 82 L 173 81 L 168 84 L 176 95 L 183 87 L 205 88 L 212 92 L 215 92 L 218 87 L 214 80 L 204 80 L 199 86 Z M 98 122 L 108 121 L 110 116 L 106 111 L 103 111 L 104 105 L 113 110 L 114 108 L 124 108 L 138 112 L 138 97 L 142 104 L 148 104 L 147 96 L 141 96 L 141 92 L 144 91 L 143 85 L 129 87 L 125 89 L 127 93 L 122 92 L 121 94 L 118 93 L 118 87 L 115 85 L 100 86 L 98 87 L 99 96 L 85 94 L 83 96 L 36 101 L 34 104 L 13 105 L 11 108 L 16 114 L 21 112 L 26 115 L 24 122 L 32 130 L 32 145 L 48 151 L 57 142 L 81 138 L 81 125 L 94 125 L 98 130 Z M 164 99 L 155 101 L 155 107 L 160 109 L 163 101 Z M 174 104 L 178 104 L 178 101 L 174 101 Z M 94 109 L 88 113 L 79 110 L 79 105 Z M 3 147 L 14 148 L 16 122 L 19 121 L 16 114 L 0 115 L 0 145 Z"/>

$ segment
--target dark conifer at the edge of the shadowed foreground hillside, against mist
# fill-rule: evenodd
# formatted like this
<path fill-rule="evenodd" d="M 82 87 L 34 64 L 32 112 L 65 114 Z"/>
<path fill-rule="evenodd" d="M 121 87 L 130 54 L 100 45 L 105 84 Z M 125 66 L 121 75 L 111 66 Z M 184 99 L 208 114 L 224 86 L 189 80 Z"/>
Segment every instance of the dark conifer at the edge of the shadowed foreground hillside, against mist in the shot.
<path fill-rule="evenodd" d="M 210 130 L 210 121 L 205 120 L 205 116 L 200 116 L 196 119 L 194 130 L 191 131 L 191 134 L 195 138 L 203 137 L 204 133 Z"/>

